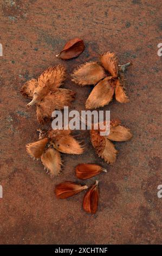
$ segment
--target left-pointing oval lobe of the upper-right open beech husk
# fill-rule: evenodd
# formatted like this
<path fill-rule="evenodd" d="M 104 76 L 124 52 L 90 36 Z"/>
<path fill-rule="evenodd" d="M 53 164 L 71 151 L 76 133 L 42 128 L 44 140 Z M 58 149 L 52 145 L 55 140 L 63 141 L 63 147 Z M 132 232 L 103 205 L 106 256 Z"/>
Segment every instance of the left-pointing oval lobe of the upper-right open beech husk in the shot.
<path fill-rule="evenodd" d="M 98 83 L 105 76 L 106 73 L 102 66 L 97 62 L 89 62 L 74 70 L 72 81 L 81 86 L 87 86 Z"/>

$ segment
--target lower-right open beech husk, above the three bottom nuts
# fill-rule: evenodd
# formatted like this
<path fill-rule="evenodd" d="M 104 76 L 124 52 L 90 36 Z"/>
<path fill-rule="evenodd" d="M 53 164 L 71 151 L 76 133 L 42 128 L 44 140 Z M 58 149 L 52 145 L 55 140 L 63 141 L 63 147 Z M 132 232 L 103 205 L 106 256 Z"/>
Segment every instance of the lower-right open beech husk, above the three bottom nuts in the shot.
<path fill-rule="evenodd" d="M 90 139 L 95 152 L 98 156 L 105 160 L 105 162 L 113 164 L 118 153 L 111 141 L 128 141 L 132 138 L 132 133 L 129 129 L 119 125 L 119 121 L 111 121 L 110 133 L 107 136 L 101 136 L 100 132 L 103 130 L 90 130 Z M 111 140 L 111 141 L 109 141 Z"/>

